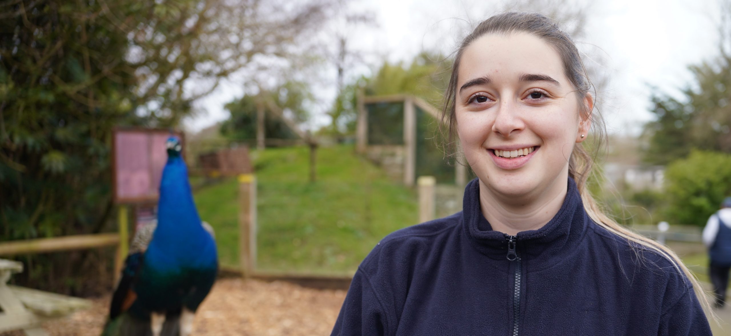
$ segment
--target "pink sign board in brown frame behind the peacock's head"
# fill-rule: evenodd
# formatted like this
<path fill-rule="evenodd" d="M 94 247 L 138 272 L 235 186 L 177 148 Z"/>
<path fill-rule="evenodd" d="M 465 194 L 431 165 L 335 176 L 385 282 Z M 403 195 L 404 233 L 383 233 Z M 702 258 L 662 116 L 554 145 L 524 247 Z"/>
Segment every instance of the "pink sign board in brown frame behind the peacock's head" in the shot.
<path fill-rule="evenodd" d="M 181 141 L 180 133 L 175 133 Z M 167 162 L 165 142 L 170 131 L 115 129 L 113 132 L 113 187 L 115 203 L 154 202 Z"/>

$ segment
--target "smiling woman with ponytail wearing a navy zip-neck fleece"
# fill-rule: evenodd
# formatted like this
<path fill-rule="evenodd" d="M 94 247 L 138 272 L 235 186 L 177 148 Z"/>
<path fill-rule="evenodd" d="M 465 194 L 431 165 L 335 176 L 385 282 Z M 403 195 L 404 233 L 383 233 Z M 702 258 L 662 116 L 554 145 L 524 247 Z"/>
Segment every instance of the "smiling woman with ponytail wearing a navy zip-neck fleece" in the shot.
<path fill-rule="evenodd" d="M 582 142 L 602 121 L 567 34 L 543 15 L 496 15 L 454 64 L 444 120 L 477 175 L 463 211 L 385 237 L 333 335 L 711 335 L 678 257 L 586 189 Z"/>

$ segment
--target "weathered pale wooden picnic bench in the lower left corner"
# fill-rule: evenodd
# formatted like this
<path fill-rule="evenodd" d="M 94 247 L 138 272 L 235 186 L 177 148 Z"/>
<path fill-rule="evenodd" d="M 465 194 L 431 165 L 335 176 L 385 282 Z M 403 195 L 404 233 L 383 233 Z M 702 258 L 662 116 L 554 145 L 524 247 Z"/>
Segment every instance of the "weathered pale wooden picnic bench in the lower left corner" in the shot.
<path fill-rule="evenodd" d="M 0 332 L 22 329 L 28 336 L 48 336 L 42 322 L 91 306 L 86 299 L 8 285 L 12 274 L 20 272 L 22 263 L 0 259 Z"/>

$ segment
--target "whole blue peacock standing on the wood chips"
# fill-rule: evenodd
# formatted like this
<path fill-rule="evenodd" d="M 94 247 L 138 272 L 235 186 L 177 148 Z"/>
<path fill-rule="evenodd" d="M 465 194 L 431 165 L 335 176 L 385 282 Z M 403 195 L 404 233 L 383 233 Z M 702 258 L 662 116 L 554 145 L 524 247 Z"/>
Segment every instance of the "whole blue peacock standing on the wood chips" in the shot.
<path fill-rule="evenodd" d="M 102 336 L 187 336 L 218 272 L 213 229 L 193 202 L 181 142 L 170 137 L 157 221 L 138 230 Z"/>

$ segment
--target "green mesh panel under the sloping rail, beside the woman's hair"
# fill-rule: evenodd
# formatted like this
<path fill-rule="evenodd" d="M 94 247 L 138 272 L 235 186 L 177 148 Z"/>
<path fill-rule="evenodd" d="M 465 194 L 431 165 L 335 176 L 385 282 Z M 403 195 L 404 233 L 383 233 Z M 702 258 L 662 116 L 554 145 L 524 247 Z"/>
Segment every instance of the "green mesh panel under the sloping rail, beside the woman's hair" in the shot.
<path fill-rule="evenodd" d="M 455 183 L 455 167 L 442 149 L 439 121 L 414 106 L 416 112 L 416 177 L 431 175 L 436 183 Z"/>

